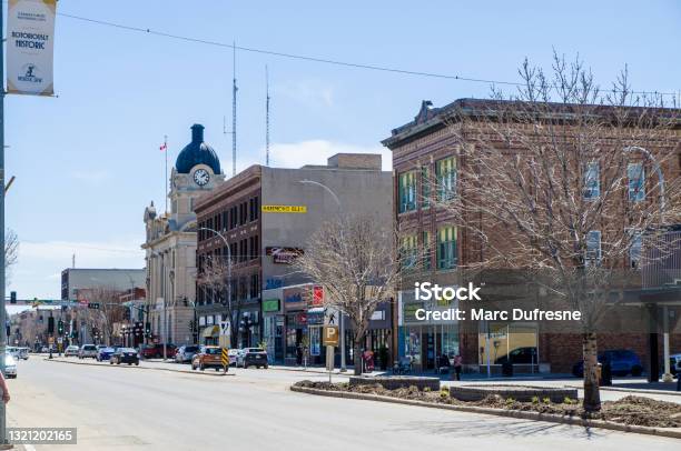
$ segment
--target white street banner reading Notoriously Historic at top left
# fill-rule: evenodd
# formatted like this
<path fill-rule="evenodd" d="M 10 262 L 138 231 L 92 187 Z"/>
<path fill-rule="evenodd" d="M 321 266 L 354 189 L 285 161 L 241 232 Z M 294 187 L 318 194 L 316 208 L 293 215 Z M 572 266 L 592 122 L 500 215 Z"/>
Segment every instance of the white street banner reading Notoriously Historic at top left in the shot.
<path fill-rule="evenodd" d="M 52 96 L 56 0 L 9 0 L 7 91 Z"/>

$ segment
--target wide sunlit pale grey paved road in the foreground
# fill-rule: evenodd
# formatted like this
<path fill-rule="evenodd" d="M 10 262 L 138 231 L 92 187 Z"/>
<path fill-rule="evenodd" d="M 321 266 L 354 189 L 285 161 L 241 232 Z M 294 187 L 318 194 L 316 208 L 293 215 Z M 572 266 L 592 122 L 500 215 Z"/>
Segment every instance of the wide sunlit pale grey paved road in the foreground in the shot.
<path fill-rule="evenodd" d="M 37 450 L 678 450 L 679 441 L 287 390 L 290 371 L 235 375 L 30 359 L 10 381 L 10 425 L 77 427 L 78 445 Z"/>

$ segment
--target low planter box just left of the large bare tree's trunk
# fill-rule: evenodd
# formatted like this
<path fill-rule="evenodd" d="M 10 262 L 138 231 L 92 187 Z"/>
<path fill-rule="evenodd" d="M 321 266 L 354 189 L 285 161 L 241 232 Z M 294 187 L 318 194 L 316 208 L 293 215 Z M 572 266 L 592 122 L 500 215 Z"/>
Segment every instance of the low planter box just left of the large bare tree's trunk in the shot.
<path fill-rule="evenodd" d="M 456 385 L 450 387 L 450 397 L 461 401 L 480 401 L 491 394 L 503 399 L 512 398 L 515 401 L 530 402 L 539 398 L 540 402 L 549 398 L 551 402 L 563 402 L 565 398 L 578 399 L 576 389 L 559 389 L 552 387 L 529 385 Z"/>

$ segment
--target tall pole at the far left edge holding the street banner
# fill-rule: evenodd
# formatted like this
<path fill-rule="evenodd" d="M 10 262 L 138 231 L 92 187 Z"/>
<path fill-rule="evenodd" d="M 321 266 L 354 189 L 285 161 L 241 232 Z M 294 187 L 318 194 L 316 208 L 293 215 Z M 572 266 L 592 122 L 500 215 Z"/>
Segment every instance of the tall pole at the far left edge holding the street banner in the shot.
<path fill-rule="evenodd" d="M 4 6 L 0 4 L 0 187 L 4 188 Z M 7 314 L 4 310 L 4 190 L 0 190 L 0 371 L 4 374 L 4 353 L 7 351 Z M 7 444 L 7 409 L 0 402 L 0 443 Z"/>

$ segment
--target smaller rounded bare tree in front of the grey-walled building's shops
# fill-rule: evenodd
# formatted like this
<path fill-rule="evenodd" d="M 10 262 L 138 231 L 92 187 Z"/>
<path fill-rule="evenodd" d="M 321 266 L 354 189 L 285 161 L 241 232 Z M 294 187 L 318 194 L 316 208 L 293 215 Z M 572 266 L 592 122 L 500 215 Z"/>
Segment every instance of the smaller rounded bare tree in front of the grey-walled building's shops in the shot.
<path fill-rule="evenodd" d="M 393 295 L 399 274 L 392 224 L 369 216 L 337 219 L 309 239 L 295 265 L 325 288 L 325 307 L 348 315 L 353 325 L 355 374 L 376 307 Z M 343 339 L 343 338 L 342 338 Z"/>

